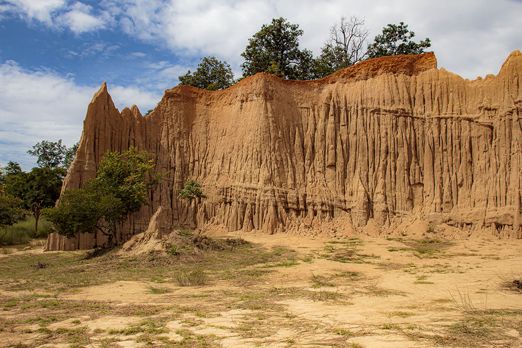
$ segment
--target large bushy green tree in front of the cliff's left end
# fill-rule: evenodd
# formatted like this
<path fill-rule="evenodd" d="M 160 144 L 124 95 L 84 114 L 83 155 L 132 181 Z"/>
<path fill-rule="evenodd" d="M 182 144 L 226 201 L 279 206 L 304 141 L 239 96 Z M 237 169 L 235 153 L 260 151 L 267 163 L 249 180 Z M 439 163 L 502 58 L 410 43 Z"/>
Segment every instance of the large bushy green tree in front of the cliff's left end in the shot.
<path fill-rule="evenodd" d="M 149 189 L 163 176 L 154 174 L 151 157 L 134 147 L 123 154 L 105 153 L 96 178 L 65 191 L 58 206 L 45 211 L 46 219 L 58 234 L 73 237 L 99 231 L 113 244 L 116 226 L 146 204 Z"/>

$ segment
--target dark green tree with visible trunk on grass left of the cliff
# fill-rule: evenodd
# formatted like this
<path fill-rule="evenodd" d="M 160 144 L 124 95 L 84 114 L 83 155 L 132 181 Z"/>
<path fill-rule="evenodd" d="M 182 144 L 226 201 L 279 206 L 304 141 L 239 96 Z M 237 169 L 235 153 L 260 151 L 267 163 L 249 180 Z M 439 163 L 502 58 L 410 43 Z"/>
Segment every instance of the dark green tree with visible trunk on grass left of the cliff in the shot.
<path fill-rule="evenodd" d="M 20 172 L 6 178 L 4 190 L 22 201 L 22 206 L 31 211 L 34 231 L 38 231 L 38 221 L 42 210 L 54 206 L 66 171 L 61 167 L 34 167 L 29 173 Z"/>

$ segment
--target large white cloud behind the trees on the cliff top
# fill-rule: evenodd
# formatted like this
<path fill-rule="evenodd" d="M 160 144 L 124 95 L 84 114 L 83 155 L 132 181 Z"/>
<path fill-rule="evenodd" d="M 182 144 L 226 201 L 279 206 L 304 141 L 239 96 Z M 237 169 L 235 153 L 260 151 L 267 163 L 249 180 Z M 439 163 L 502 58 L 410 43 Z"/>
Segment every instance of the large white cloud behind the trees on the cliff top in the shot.
<path fill-rule="evenodd" d="M 131 37 L 177 54 L 215 55 L 234 68 L 248 39 L 278 17 L 299 23 L 302 47 L 315 54 L 341 15 L 364 17 L 370 41 L 388 23 L 404 21 L 417 41 L 431 38 L 440 67 L 467 78 L 496 74 L 507 55 L 522 47 L 522 2 L 508 0 L 107 0 L 102 6 Z"/>

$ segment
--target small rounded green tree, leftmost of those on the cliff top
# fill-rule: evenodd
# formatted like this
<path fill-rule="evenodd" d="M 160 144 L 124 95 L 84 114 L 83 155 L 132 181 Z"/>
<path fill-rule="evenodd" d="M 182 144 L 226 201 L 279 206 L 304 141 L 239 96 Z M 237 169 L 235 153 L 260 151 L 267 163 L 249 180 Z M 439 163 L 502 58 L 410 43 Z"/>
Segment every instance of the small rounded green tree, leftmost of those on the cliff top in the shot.
<path fill-rule="evenodd" d="M 194 73 L 191 70 L 179 76 L 180 85 L 194 86 L 200 89 L 216 91 L 230 87 L 234 84 L 234 74 L 230 65 L 224 61 L 218 61 L 216 57 L 201 58 L 201 63 Z"/>

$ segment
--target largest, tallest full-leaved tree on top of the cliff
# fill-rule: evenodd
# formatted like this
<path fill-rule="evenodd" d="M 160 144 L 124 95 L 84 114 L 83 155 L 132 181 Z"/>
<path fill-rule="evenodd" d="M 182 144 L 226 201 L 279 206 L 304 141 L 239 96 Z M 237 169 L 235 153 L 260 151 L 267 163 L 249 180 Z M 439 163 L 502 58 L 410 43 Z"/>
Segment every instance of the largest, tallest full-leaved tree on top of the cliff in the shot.
<path fill-rule="evenodd" d="M 305 80 L 312 77 L 312 52 L 299 50 L 299 37 L 303 30 L 285 18 L 274 18 L 271 24 L 248 39 L 241 54 L 245 62 L 241 65 L 243 77 L 265 72 L 285 79 Z"/>

